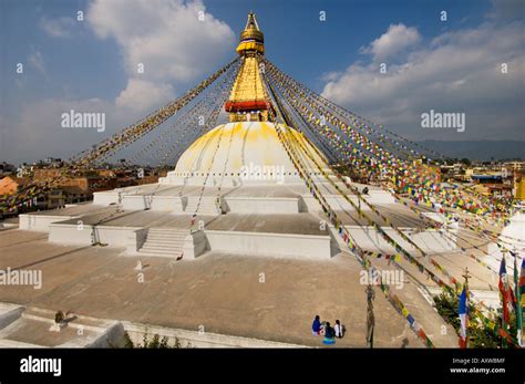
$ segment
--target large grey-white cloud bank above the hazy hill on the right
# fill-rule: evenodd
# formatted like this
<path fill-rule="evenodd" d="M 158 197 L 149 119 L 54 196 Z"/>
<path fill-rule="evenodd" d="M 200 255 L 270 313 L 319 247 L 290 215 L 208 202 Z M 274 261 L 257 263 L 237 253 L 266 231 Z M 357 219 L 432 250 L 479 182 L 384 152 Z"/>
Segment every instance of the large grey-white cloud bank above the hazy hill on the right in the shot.
<path fill-rule="evenodd" d="M 523 23 L 446 32 L 395 59 L 385 74 L 373 60 L 351 64 L 337 79 L 330 74 L 323 96 L 413 138 L 523 139 Z M 422 129 L 421 113 L 431 108 L 464 112 L 465 133 Z"/>

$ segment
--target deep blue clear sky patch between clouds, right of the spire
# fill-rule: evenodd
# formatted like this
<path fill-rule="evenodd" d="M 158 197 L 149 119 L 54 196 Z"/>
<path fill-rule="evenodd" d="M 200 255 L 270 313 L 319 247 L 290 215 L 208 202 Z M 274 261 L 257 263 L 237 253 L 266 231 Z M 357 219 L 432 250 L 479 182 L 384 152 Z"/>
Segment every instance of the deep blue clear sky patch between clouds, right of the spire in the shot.
<path fill-rule="evenodd" d="M 246 13 L 256 12 L 265 32 L 267 56 L 295 79 L 322 91 L 321 74 L 342 71 L 360 59 L 359 49 L 380 37 L 390 24 L 415 25 L 433 37 L 446 29 L 475 25 L 488 9 L 486 1 L 209 1 L 209 10 L 235 31 Z M 440 11 L 450 13 L 439 22 Z M 319 21 L 319 12 L 327 21 Z"/>

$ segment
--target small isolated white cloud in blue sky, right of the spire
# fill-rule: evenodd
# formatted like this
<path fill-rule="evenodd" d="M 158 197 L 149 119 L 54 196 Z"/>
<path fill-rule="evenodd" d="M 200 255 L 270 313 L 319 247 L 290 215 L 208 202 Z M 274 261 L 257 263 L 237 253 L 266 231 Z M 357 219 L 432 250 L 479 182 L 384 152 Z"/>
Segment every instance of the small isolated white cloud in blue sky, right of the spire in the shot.
<path fill-rule="evenodd" d="M 373 55 L 375 62 L 392 58 L 394 54 L 419 43 L 421 35 L 414 27 L 406 28 L 404 24 L 390 24 L 389 30 L 370 45 L 362 48 L 362 53 Z"/>

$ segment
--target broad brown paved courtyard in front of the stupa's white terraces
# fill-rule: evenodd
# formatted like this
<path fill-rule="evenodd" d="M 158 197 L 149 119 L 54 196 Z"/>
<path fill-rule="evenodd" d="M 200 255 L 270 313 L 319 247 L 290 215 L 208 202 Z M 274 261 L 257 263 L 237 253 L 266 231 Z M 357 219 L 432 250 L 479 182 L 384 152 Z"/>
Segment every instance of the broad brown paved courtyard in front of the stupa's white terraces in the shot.
<path fill-rule="evenodd" d="M 0 301 L 187 330 L 204 325 L 214 333 L 310 346 L 322 345 L 310 335 L 312 318 L 320 314 L 347 326 L 339 346 L 366 345 L 361 268 L 349 255 L 329 261 L 212 252 L 192 261 L 150 258 L 142 260 L 141 282 L 137 259 L 120 256 L 122 251 L 53 245 L 39 232 L 0 231 L 0 269 L 38 269 L 43 276 L 40 290 L 2 287 Z M 412 289 L 404 294 L 416 295 Z M 377 346 L 422 346 L 379 290 L 374 311 Z M 455 336 L 445 338 L 442 345 L 453 341 Z"/>

